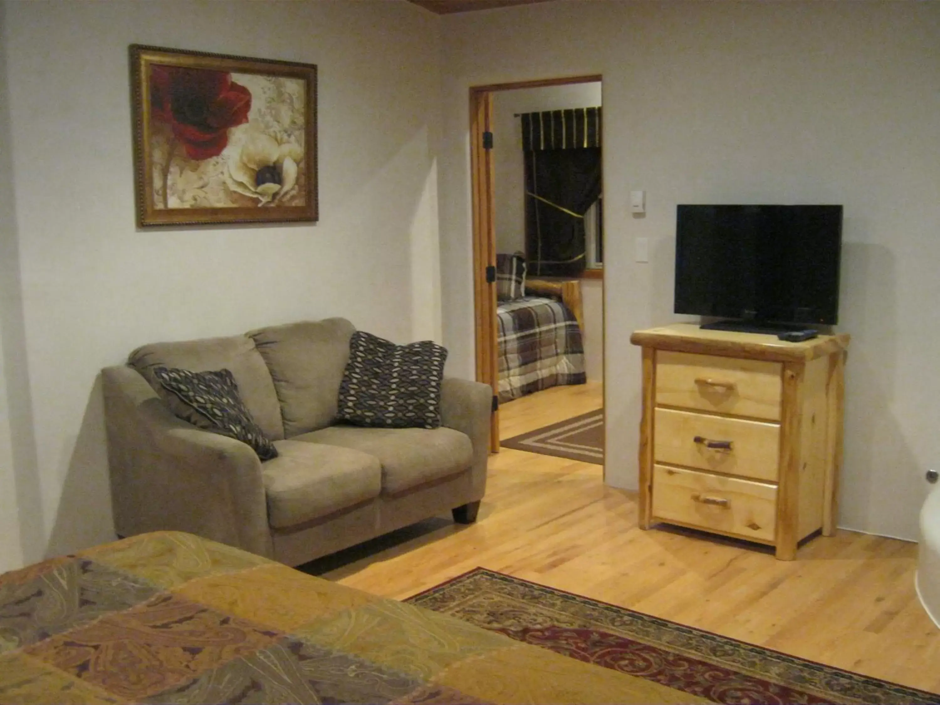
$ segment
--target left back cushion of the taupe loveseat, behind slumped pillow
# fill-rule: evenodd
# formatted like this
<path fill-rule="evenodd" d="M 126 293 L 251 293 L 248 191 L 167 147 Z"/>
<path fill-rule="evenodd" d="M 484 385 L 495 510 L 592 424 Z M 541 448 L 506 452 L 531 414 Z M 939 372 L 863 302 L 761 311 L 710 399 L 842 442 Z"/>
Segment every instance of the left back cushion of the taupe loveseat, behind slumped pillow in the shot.
<path fill-rule="evenodd" d="M 261 431 L 272 440 L 284 438 L 280 404 L 271 374 L 250 337 L 208 337 L 151 343 L 133 351 L 128 364 L 140 372 L 164 399 L 166 395 L 154 377 L 153 368 L 180 368 L 193 372 L 228 369 L 238 384 L 239 396 Z"/>

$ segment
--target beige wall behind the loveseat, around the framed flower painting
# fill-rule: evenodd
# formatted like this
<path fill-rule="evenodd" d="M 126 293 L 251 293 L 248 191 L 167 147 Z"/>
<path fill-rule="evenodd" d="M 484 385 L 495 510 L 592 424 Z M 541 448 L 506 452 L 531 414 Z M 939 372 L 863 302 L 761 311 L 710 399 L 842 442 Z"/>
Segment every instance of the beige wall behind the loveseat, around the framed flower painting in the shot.
<path fill-rule="evenodd" d="M 135 346 L 327 316 L 440 339 L 440 20 L 384 0 L 3 8 L 0 412 L 18 432 L 5 416 L 0 493 L 15 456 L 19 520 L 0 504 L 0 531 L 19 524 L 36 560 L 113 538 L 98 371 Z M 319 224 L 135 229 L 131 43 L 318 64 Z"/>

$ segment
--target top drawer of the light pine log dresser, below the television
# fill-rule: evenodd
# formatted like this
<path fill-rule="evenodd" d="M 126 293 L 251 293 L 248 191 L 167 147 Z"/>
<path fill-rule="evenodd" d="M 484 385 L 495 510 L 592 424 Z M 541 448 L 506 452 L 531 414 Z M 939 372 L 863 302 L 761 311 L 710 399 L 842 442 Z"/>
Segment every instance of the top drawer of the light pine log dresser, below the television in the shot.
<path fill-rule="evenodd" d="M 690 352 L 656 352 L 656 404 L 780 419 L 782 364 Z"/>

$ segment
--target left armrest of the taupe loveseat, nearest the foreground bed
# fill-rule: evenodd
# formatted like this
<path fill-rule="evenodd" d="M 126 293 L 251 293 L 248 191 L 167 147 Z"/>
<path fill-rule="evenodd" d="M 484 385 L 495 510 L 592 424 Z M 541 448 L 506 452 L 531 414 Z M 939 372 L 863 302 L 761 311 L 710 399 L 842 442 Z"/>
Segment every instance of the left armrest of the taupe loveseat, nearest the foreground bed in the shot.
<path fill-rule="evenodd" d="M 102 370 L 115 529 L 177 530 L 273 557 L 261 462 L 170 412 L 136 370 Z"/>

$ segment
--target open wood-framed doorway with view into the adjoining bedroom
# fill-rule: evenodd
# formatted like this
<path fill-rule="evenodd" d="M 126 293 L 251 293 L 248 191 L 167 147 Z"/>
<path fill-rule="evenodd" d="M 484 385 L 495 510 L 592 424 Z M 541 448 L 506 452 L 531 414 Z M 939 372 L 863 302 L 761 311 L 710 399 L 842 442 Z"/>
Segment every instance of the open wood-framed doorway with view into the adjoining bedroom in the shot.
<path fill-rule="evenodd" d="M 471 89 L 477 370 L 499 400 L 491 447 L 599 475 L 601 88 L 584 76 Z"/>

